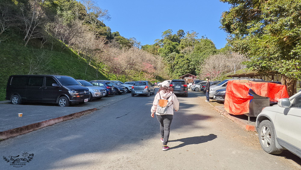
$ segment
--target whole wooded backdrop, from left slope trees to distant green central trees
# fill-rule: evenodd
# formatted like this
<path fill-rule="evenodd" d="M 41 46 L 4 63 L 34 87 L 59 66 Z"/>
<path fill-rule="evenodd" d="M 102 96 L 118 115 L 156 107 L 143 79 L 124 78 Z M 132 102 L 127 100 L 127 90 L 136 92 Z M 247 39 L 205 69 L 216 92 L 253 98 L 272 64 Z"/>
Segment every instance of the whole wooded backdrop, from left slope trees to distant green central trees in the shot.
<path fill-rule="evenodd" d="M 96 69 L 96 77 L 103 74 L 107 79 L 126 81 L 136 77 L 155 81 L 177 79 L 187 73 L 216 78 L 212 74 L 219 72 L 202 71 L 205 60 L 220 52 L 228 53 L 227 48 L 217 50 L 207 37 L 198 38 L 197 32 L 184 30 L 177 34 L 163 31 L 161 39 L 142 46 L 134 37 L 111 32 L 103 23 L 111 19 L 109 11 L 90 0 L 0 0 L 0 13 L 0 42 L 10 40 L 12 29 L 18 30 L 25 47 L 29 44 L 58 50 L 54 44 L 59 40 L 59 50 L 71 49 Z M 47 61 L 40 58 L 43 59 Z M 223 72 L 233 70 L 228 63 Z M 30 70 L 28 74 L 43 73 L 39 67 Z"/>

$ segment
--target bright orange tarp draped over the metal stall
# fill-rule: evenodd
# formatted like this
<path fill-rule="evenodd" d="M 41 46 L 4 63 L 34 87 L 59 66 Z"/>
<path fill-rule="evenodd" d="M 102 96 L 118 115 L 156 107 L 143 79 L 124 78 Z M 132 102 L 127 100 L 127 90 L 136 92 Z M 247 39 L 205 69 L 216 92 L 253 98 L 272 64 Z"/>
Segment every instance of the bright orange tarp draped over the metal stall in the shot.
<path fill-rule="evenodd" d="M 276 101 L 281 98 L 289 98 L 285 85 L 249 80 L 230 80 L 226 88 L 225 110 L 230 114 L 249 113 L 249 104 L 253 99 L 253 96 L 249 95 L 250 89 L 259 96 Z"/>

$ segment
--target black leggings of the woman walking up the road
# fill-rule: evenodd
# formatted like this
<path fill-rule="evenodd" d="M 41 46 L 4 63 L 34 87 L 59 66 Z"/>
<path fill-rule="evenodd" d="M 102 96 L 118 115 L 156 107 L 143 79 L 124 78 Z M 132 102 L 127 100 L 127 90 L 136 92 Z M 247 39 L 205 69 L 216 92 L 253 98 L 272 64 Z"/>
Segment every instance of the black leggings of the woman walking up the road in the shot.
<path fill-rule="evenodd" d="M 169 138 L 169 129 L 173 119 L 173 115 L 166 114 L 166 115 L 156 115 L 156 116 L 160 123 L 160 133 L 161 133 L 161 137 L 164 140 L 163 145 L 167 145 L 168 138 Z"/>

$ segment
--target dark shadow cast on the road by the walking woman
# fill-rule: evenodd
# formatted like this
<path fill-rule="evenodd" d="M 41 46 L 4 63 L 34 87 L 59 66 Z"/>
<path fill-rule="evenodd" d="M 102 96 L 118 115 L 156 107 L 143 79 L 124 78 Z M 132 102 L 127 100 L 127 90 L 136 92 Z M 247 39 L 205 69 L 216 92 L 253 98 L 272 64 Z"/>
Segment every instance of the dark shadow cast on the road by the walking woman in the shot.
<path fill-rule="evenodd" d="M 215 134 L 209 134 L 207 136 L 194 136 L 194 137 L 187 137 L 187 138 L 182 138 L 177 140 L 170 140 L 168 142 L 184 142 L 184 143 L 181 143 L 180 145 L 174 146 L 169 149 L 177 149 L 186 145 L 205 143 L 210 140 L 214 140 L 215 138 L 217 138 Z"/>

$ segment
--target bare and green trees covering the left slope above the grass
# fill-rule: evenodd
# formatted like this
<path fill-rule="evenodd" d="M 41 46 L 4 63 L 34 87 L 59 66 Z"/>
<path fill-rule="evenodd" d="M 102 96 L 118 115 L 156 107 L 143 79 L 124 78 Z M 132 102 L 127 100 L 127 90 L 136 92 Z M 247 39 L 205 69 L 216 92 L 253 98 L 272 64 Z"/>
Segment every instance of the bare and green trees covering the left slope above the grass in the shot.
<path fill-rule="evenodd" d="M 141 50 L 141 43 L 134 37 L 111 32 L 103 23 L 110 20 L 108 11 L 93 1 L 1 0 L 0 14 L 0 43 L 10 41 L 11 30 L 17 30 L 25 47 L 61 52 L 71 49 L 96 69 L 96 77 L 98 73 L 121 81 L 129 77 L 154 81 L 159 73 L 168 77 L 160 56 Z M 60 49 L 54 49 L 57 40 Z M 36 69 L 28 74 L 43 73 L 43 69 Z"/>

